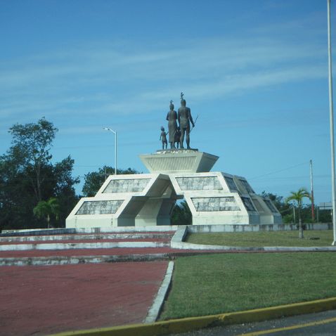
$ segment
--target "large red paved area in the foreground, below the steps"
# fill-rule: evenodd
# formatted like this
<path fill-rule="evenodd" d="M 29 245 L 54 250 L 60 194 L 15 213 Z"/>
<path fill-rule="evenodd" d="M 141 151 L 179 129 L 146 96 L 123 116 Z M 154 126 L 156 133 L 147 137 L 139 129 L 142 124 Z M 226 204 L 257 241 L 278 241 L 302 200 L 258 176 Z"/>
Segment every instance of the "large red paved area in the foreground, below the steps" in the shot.
<path fill-rule="evenodd" d="M 0 273 L 0 335 L 49 335 L 141 323 L 167 261 L 4 266 Z"/>

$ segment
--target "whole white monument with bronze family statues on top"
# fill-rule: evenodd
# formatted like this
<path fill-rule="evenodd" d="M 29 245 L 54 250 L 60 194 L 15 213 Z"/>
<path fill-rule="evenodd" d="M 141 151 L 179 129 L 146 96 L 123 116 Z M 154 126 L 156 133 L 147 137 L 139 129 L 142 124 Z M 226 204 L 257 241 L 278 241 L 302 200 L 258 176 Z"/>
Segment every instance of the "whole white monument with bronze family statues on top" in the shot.
<path fill-rule="evenodd" d="M 139 155 L 149 174 L 110 175 L 93 198 L 79 200 L 67 228 L 170 225 L 172 209 L 183 198 L 193 225 L 282 223 L 271 200 L 257 195 L 243 176 L 210 172 L 219 157 L 190 148 L 190 123 L 195 127 L 195 122 L 183 93 L 177 113 L 180 148 L 174 148 L 175 114 L 171 101 L 166 118 L 171 149 L 166 145 Z"/>

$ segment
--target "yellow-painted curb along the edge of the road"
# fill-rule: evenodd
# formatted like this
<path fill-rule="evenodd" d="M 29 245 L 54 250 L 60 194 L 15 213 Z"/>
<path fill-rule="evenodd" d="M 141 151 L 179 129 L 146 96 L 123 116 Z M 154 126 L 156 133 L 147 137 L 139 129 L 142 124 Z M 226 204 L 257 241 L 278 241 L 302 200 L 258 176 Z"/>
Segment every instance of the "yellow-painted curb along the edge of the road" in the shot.
<path fill-rule="evenodd" d="M 119 327 L 60 332 L 53 336 L 159 336 L 179 332 L 188 332 L 202 328 L 212 328 L 219 325 L 233 325 L 247 322 L 266 321 L 282 316 L 317 313 L 336 308 L 336 297 L 316 301 L 286 304 L 270 308 L 238 311 L 235 313 L 180 318 L 177 320 L 160 321 L 149 324 L 122 325 Z"/>

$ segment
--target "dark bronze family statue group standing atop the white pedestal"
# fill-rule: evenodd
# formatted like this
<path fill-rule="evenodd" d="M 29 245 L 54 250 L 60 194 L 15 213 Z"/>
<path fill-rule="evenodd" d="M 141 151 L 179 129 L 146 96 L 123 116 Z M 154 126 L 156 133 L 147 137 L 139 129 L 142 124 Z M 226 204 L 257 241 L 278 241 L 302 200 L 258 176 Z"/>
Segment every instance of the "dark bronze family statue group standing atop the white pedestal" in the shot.
<path fill-rule="evenodd" d="M 160 140 L 162 141 L 162 149 L 167 149 L 168 142 L 170 148 L 184 148 L 183 141 L 186 136 L 187 149 L 190 149 L 190 123 L 195 127 L 193 117 L 191 117 L 190 108 L 186 106 L 186 101 L 183 98 L 183 92 L 181 92 L 181 107 L 178 112 L 174 110 L 173 101 L 170 101 L 169 112 L 167 113 L 168 131 L 164 131 L 164 127 L 161 127 Z M 177 126 L 179 122 L 179 126 Z M 169 134 L 169 141 L 167 142 L 167 134 Z"/>

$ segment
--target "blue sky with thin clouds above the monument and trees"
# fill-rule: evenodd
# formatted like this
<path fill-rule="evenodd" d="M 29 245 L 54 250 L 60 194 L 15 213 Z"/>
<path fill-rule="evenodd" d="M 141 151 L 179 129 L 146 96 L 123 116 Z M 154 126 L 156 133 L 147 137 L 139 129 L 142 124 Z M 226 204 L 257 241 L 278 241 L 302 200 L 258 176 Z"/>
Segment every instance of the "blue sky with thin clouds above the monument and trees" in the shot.
<path fill-rule="evenodd" d="M 0 0 L 0 38 L 1 154 L 9 127 L 46 117 L 53 160 L 71 155 L 82 181 L 114 166 L 102 127 L 118 167 L 146 172 L 138 154 L 183 91 L 214 171 L 287 196 L 310 189 L 312 159 L 316 202 L 331 200 L 327 1 Z"/>

